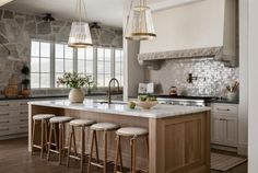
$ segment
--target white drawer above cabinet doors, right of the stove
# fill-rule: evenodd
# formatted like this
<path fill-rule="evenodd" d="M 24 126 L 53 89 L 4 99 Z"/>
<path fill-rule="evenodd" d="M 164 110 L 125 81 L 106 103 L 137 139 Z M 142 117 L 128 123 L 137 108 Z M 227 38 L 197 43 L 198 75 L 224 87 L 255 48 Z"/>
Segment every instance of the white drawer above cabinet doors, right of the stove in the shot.
<path fill-rule="evenodd" d="M 212 114 L 238 115 L 238 105 L 212 104 Z"/>

